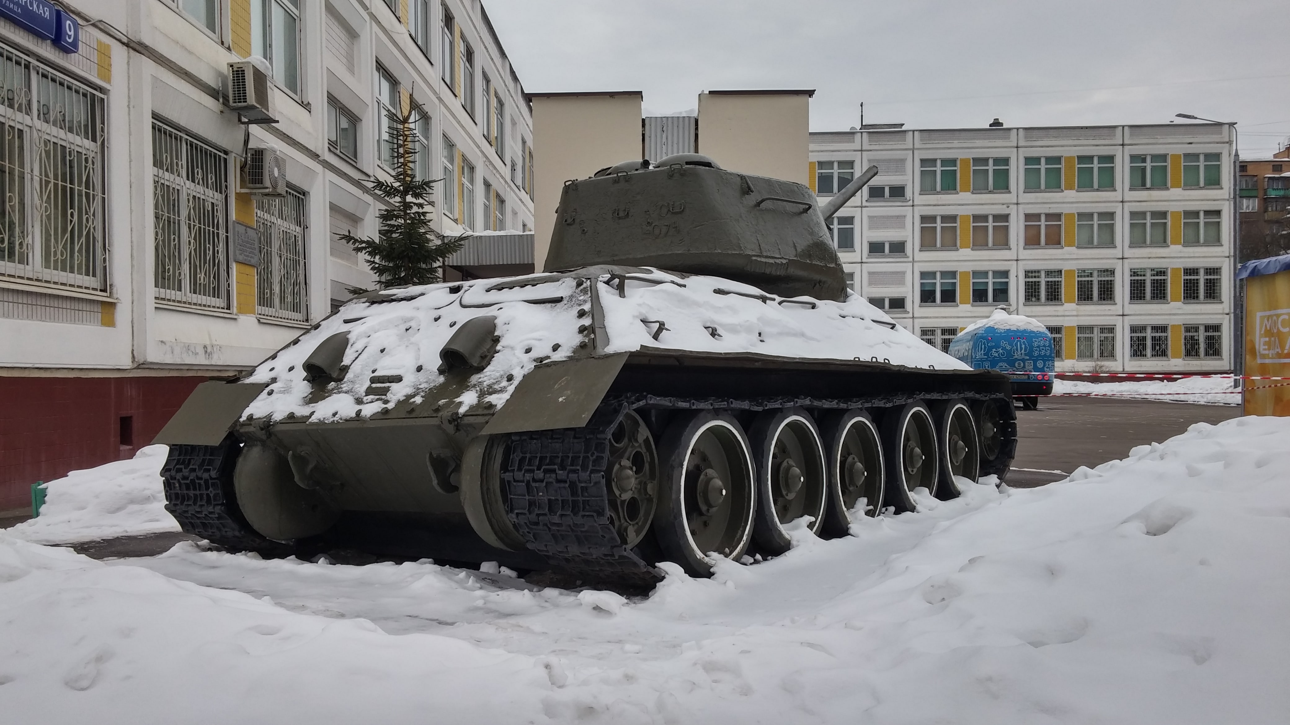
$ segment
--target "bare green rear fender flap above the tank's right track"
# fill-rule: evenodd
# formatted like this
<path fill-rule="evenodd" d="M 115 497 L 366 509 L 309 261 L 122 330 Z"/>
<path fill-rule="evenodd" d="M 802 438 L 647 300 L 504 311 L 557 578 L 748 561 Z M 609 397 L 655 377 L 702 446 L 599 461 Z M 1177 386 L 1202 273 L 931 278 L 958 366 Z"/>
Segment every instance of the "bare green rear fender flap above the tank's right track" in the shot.
<path fill-rule="evenodd" d="M 604 357 L 574 357 L 538 365 L 520 379 L 484 433 L 517 433 L 580 428 L 618 378 L 626 352 Z"/>

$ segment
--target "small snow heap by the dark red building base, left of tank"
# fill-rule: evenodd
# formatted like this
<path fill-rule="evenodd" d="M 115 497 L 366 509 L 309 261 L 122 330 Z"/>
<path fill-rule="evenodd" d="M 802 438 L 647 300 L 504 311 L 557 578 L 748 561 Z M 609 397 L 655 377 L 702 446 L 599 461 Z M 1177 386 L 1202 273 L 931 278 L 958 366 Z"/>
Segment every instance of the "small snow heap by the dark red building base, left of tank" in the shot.
<path fill-rule="evenodd" d="M 9 533 L 35 543 L 72 543 L 178 531 L 161 488 L 166 450 L 164 445 L 144 446 L 129 461 L 49 481 L 40 516 Z"/>

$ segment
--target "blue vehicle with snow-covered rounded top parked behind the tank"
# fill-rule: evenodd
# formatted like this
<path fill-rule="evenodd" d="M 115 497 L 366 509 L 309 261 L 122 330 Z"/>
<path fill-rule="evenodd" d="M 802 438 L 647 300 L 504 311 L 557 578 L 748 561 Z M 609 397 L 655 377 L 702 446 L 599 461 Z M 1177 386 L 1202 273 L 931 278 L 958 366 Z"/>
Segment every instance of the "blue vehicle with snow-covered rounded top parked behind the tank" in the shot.
<path fill-rule="evenodd" d="M 1013 399 L 1037 410 L 1041 395 L 1053 395 L 1053 335 L 1038 321 L 995 310 L 949 343 L 949 355 L 978 370 L 1007 373 Z"/>

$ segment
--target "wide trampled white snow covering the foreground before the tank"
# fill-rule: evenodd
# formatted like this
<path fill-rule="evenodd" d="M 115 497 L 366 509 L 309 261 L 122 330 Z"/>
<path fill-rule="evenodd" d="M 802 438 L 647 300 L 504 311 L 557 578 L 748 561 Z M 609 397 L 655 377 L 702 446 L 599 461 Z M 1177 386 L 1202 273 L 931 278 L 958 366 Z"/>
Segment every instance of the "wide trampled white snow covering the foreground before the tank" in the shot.
<path fill-rule="evenodd" d="M 5 722 L 1284 724 L 1290 419 L 648 599 L 0 533 Z"/>

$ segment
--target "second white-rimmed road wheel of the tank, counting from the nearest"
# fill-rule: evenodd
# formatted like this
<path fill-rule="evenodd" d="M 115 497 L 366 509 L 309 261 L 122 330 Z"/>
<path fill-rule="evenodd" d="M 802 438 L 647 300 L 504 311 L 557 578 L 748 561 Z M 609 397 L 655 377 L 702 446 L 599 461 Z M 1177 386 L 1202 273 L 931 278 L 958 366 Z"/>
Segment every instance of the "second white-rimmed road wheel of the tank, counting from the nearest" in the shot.
<path fill-rule="evenodd" d="M 748 436 L 757 463 L 757 520 L 752 535 L 757 546 L 779 555 L 792 546 L 784 526 L 810 516 L 819 531 L 828 503 L 824 446 L 810 414 L 800 408 L 768 410 L 757 417 Z"/>

